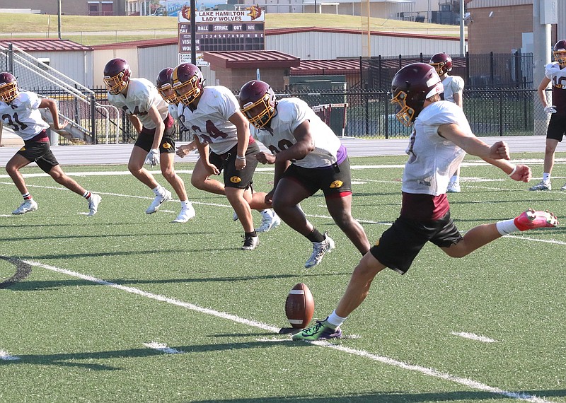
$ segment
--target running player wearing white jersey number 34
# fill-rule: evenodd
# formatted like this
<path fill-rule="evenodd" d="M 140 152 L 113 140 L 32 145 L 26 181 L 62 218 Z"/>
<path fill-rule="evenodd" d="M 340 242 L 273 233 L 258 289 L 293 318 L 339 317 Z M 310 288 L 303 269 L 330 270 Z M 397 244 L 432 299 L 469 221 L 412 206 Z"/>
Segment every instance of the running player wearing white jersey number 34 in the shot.
<path fill-rule="evenodd" d="M 258 246 L 258 230 L 253 228 L 251 209 L 269 211 L 270 228 L 281 222 L 270 204 L 265 202 L 265 193 L 251 191 L 252 177 L 260 151 L 250 137 L 249 122 L 238 107 L 238 100 L 224 86 L 204 87 L 204 77 L 194 64 L 182 63 L 173 70 L 173 89 L 177 93 L 179 119 L 195 133 L 200 158 L 192 173 L 195 187 L 216 194 L 222 184 L 210 180 L 210 175 L 220 175 L 224 170 L 224 194 L 244 230 L 243 250 Z M 204 187 L 204 188 L 203 188 Z M 263 223 L 262 223 L 263 226 Z"/>

